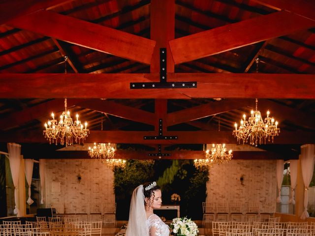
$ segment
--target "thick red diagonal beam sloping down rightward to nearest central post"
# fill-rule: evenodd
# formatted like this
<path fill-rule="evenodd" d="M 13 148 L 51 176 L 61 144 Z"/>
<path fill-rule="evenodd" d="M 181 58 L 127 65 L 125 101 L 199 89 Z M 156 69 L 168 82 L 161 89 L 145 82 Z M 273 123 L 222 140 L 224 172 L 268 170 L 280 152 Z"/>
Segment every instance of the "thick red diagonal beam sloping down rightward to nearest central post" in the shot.
<path fill-rule="evenodd" d="M 156 44 L 150 39 L 51 11 L 37 11 L 7 24 L 145 64 L 150 64 Z"/>

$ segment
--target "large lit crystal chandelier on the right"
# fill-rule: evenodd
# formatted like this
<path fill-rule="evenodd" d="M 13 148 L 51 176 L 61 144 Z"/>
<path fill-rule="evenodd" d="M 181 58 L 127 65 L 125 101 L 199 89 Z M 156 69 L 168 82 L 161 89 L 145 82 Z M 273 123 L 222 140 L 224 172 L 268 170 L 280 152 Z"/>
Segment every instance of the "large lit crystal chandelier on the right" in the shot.
<path fill-rule="evenodd" d="M 279 136 L 280 128 L 278 128 L 278 121 L 269 117 L 270 111 L 267 111 L 267 117 L 263 119 L 260 111 L 257 109 L 258 100 L 256 98 L 256 110 L 251 111 L 251 117 L 246 120 L 246 115 L 243 115 L 240 126 L 237 123 L 234 124 L 235 130 L 233 131 L 234 137 L 237 138 L 237 142 L 240 144 L 243 142 L 250 143 L 250 145 L 261 145 L 262 142 L 266 144 L 266 140 L 274 142 L 274 137 Z"/>

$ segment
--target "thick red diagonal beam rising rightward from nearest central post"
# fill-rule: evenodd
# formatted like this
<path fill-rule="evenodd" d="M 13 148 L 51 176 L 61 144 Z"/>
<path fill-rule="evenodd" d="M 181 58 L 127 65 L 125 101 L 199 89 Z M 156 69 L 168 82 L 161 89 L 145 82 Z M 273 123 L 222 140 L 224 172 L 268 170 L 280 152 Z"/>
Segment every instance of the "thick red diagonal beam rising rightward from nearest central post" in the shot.
<path fill-rule="evenodd" d="M 281 11 L 169 41 L 175 64 L 315 27 L 315 21 Z M 202 47 L 200 47 L 202 45 Z"/>

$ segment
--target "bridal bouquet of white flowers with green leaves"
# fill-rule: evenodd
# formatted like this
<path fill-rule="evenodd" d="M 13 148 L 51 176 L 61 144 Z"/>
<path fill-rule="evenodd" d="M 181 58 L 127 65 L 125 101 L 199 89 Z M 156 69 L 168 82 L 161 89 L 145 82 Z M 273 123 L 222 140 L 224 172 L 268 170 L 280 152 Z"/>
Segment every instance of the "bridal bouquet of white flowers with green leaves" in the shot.
<path fill-rule="evenodd" d="M 197 236 L 199 232 L 196 223 L 187 217 L 173 219 L 170 229 L 175 236 Z"/>

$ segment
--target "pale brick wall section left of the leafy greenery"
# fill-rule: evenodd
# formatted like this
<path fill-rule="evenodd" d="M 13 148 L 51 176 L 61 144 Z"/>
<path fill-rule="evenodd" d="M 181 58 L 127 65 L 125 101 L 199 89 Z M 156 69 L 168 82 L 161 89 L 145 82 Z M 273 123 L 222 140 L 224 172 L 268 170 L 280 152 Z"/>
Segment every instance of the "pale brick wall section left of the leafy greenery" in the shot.
<path fill-rule="evenodd" d="M 59 213 L 63 207 L 87 208 L 89 213 L 90 206 L 112 207 L 114 203 L 114 173 L 105 164 L 86 159 L 46 160 L 46 207 L 53 205 Z"/>

